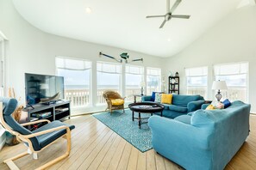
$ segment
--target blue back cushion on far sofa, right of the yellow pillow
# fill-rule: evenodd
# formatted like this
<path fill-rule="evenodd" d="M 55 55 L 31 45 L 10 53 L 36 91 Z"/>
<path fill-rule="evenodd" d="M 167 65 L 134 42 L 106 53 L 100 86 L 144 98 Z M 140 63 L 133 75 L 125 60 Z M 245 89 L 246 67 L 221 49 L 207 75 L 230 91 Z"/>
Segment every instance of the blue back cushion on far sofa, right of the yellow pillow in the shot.
<path fill-rule="evenodd" d="M 201 95 L 172 95 L 172 105 L 187 106 L 190 101 L 203 100 Z"/>

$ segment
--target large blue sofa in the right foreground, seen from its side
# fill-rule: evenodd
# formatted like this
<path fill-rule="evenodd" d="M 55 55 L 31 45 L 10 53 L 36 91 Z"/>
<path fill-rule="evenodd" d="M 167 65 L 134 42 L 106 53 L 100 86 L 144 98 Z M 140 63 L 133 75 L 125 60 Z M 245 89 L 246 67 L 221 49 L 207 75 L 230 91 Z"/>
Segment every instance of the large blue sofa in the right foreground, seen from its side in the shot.
<path fill-rule="evenodd" d="M 153 148 L 191 170 L 221 170 L 249 135 L 251 106 L 234 101 L 222 110 L 197 110 L 177 118 L 152 116 Z"/>

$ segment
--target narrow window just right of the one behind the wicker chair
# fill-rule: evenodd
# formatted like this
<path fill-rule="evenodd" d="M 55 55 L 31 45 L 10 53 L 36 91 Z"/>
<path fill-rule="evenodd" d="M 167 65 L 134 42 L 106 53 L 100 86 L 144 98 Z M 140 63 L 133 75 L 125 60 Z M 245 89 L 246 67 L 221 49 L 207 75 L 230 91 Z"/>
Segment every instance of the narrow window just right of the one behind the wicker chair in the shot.
<path fill-rule="evenodd" d="M 125 66 L 125 95 L 126 100 L 133 101 L 133 94 L 140 94 L 140 84 L 144 81 L 144 68 L 141 66 Z"/>

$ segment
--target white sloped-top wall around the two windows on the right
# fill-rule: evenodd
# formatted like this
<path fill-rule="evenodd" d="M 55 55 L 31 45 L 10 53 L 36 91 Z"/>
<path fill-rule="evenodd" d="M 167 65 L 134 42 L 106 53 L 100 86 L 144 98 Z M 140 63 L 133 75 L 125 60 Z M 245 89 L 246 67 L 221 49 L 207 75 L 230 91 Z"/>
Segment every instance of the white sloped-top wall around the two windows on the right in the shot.
<path fill-rule="evenodd" d="M 214 64 L 249 62 L 249 103 L 256 112 L 256 7 L 237 9 L 212 27 L 184 51 L 165 62 L 165 73 L 178 71 L 181 93 L 186 93 L 184 68 Z M 213 79 L 212 76 L 209 77 Z M 211 87 L 211 81 L 209 87 Z M 210 88 L 209 88 L 210 89 Z M 210 93 L 211 94 L 211 93 Z"/>

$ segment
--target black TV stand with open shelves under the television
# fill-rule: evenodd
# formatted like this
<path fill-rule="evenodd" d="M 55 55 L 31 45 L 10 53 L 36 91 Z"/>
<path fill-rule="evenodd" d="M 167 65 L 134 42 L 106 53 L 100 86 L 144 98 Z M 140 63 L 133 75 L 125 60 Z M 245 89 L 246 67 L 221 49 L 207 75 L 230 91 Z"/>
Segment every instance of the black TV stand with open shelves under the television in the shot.
<path fill-rule="evenodd" d="M 25 112 L 28 112 L 28 121 L 31 118 L 36 118 L 38 116 L 39 119 L 46 118 L 50 121 L 54 120 L 64 120 L 65 118 L 70 118 L 70 101 L 69 100 L 59 100 L 53 104 L 37 104 L 32 106 L 28 106 L 24 109 Z M 50 114 L 46 117 L 40 117 L 41 114 Z M 30 129 L 30 127 L 28 127 Z"/>

